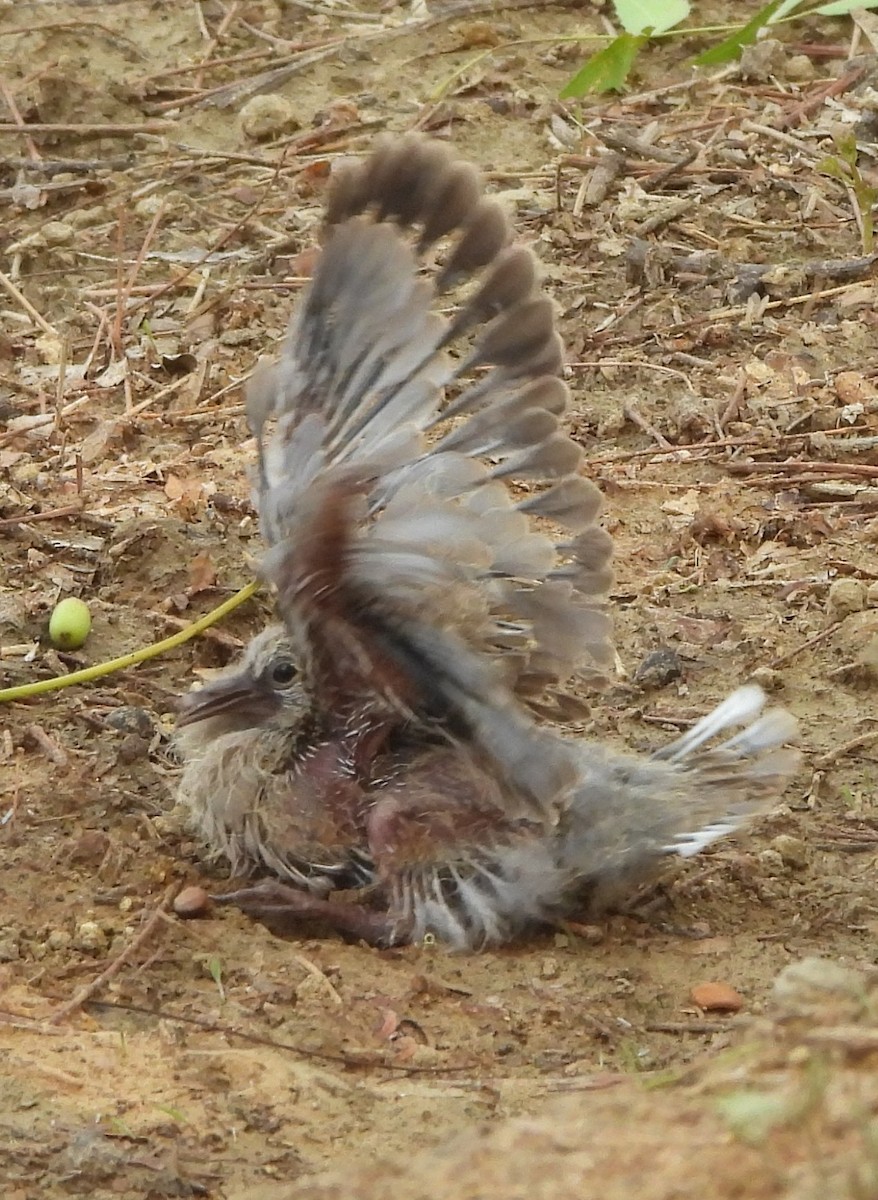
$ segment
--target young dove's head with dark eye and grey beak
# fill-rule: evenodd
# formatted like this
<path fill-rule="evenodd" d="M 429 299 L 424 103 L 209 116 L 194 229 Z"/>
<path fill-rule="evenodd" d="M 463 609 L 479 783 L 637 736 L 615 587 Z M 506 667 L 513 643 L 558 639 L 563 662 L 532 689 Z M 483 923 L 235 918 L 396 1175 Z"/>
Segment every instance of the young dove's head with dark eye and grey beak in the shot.
<path fill-rule="evenodd" d="M 182 697 L 176 724 L 187 731 L 198 726 L 192 730 L 198 740 L 255 727 L 284 730 L 307 703 L 301 656 L 285 629 L 270 625 L 235 665 Z"/>

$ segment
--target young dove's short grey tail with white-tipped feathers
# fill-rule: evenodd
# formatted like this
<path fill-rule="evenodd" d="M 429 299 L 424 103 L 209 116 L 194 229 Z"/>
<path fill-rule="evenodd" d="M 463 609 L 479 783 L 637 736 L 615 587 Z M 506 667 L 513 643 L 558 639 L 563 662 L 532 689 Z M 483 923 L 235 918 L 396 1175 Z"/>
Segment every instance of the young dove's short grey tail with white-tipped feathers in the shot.
<path fill-rule="evenodd" d="M 764 704 L 760 688 L 739 688 L 649 758 L 583 745 L 581 782 L 559 828 L 561 865 L 583 886 L 612 884 L 664 856 L 697 854 L 769 811 L 801 756 L 784 745 L 796 734 L 795 719 L 783 709 L 763 712 Z"/>

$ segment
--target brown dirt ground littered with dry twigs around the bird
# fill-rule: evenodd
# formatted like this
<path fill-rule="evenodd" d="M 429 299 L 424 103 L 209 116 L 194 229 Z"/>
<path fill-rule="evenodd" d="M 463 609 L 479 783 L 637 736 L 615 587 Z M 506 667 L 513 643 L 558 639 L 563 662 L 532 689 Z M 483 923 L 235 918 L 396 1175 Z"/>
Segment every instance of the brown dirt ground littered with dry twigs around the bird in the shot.
<path fill-rule="evenodd" d="M 240 382 L 331 162 L 422 128 L 483 168 L 561 312 L 626 670 L 583 732 L 656 745 L 756 676 L 806 760 L 649 919 L 378 952 L 167 911 L 223 880 L 174 810 L 174 698 L 265 601 L 0 707 L 7 1200 L 878 1196 L 878 64 L 810 19 L 744 71 L 664 42 L 626 96 L 559 103 L 601 29 L 501 0 L 0 5 L 0 686 L 252 577 Z M 61 594 L 94 614 L 76 654 L 46 642 Z M 710 982 L 740 1013 L 698 1008 Z"/>

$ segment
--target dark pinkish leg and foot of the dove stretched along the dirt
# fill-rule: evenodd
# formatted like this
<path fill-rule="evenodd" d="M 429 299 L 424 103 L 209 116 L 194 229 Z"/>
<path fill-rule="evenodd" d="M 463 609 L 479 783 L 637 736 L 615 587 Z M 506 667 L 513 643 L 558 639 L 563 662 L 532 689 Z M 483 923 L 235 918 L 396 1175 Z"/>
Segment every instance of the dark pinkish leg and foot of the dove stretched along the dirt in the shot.
<path fill-rule="evenodd" d="M 369 946 L 392 946 L 397 941 L 396 923 L 386 911 L 343 900 L 324 900 L 277 880 L 265 880 L 212 899 L 261 920 L 273 934 L 301 932 L 303 924 L 317 922 Z"/>

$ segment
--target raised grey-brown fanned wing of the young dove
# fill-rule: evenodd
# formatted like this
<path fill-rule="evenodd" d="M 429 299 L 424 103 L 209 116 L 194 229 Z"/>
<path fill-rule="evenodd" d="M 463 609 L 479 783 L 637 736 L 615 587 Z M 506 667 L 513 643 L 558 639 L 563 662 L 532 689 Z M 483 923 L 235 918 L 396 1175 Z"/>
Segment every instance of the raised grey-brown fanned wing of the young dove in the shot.
<path fill-rule="evenodd" d="M 537 749 L 513 695 L 612 661 L 612 544 L 560 425 L 551 301 L 510 238 L 443 145 L 380 144 L 331 186 L 325 248 L 248 414 L 265 570 L 318 701 L 465 733 L 528 811 L 575 767 Z"/>

